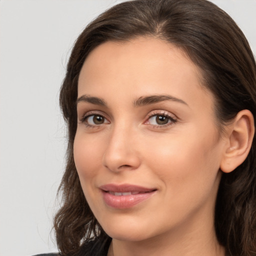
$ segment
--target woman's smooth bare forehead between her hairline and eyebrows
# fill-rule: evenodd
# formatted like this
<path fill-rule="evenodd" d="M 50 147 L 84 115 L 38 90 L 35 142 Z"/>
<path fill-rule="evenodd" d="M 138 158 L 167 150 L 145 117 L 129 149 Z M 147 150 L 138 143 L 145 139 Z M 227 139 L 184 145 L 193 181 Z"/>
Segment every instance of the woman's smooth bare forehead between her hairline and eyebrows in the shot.
<path fill-rule="evenodd" d="M 93 49 L 84 61 L 78 96 L 112 90 L 123 98 L 165 93 L 188 101 L 206 94 L 209 100 L 212 95 L 202 86 L 201 77 L 200 69 L 181 48 L 159 38 L 107 41 Z"/>

